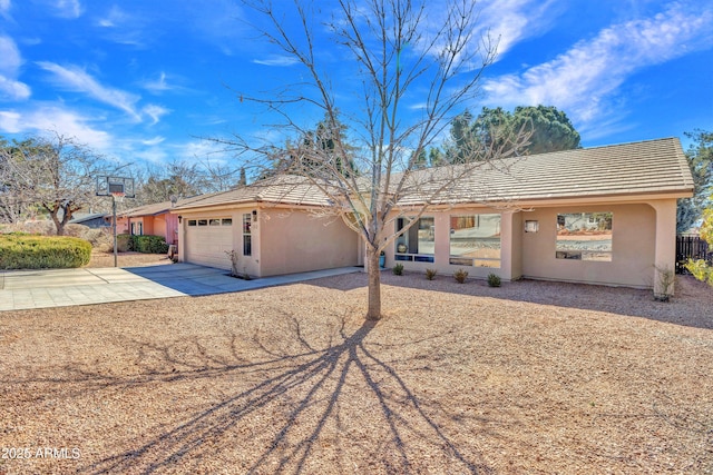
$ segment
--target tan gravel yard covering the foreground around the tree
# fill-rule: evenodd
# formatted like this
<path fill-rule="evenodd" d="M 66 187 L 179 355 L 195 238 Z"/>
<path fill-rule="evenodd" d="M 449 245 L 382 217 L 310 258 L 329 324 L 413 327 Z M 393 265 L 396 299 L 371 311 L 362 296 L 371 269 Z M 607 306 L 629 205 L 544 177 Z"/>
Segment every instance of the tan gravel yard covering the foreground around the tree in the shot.
<path fill-rule="evenodd" d="M 0 313 L 0 473 L 713 473 L 705 285 L 365 283 Z"/>

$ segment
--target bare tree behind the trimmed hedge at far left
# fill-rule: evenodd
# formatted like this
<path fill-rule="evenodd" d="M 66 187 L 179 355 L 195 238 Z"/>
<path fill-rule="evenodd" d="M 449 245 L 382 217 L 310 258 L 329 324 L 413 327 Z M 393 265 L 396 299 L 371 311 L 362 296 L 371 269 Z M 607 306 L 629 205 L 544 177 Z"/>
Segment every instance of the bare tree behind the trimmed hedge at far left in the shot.
<path fill-rule="evenodd" d="M 1 147 L 0 156 L 3 205 L 7 195 L 47 212 L 58 236 L 74 212 L 95 200 L 95 177 L 106 170 L 101 157 L 59 133 L 16 141 Z"/>

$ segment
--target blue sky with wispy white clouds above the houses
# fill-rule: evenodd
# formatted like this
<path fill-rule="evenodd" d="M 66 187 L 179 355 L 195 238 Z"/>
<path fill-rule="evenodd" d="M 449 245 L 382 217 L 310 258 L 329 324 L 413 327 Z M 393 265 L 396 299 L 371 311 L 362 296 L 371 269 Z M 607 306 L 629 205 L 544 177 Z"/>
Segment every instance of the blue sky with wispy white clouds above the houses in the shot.
<path fill-rule="evenodd" d="M 471 112 L 555 106 L 585 147 L 672 136 L 685 147 L 684 131 L 713 130 L 710 0 L 486 0 L 479 8 L 480 28 L 500 41 Z M 271 119 L 236 91 L 301 77 L 250 21 L 228 0 L 0 0 L 0 135 L 57 130 L 124 161 L 224 160 L 199 137 L 270 138 Z M 330 42 L 318 49 L 339 63 Z"/>

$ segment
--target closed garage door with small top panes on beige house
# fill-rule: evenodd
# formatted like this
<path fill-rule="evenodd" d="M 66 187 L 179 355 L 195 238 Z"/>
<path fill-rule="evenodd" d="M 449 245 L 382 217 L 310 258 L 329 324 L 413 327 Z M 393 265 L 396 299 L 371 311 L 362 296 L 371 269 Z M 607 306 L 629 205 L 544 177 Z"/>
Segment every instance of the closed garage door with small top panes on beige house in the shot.
<path fill-rule="evenodd" d="M 186 226 L 186 261 L 202 266 L 231 269 L 226 251 L 233 249 L 231 218 L 188 219 Z"/>

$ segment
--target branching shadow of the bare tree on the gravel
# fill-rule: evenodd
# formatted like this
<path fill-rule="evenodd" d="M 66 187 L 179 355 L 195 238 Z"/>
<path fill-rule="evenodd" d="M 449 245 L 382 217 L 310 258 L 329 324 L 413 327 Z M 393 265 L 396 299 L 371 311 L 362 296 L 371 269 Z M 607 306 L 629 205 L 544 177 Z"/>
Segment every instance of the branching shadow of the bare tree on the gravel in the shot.
<path fill-rule="evenodd" d="M 221 356 L 211 355 L 198 340 L 191 344 L 191 352 L 129 342 L 138 347 L 137 363 L 144 366 L 135 376 L 106 378 L 75 370 L 74 380 L 84 380 L 85 390 L 168 388 L 203 380 L 225 385 L 221 390 L 227 393 L 79 472 L 154 473 L 176 464 L 205 471 L 201 461 L 212 457 L 237 473 L 299 474 L 325 467 L 369 473 L 411 473 L 424 467 L 492 472 L 475 447 L 463 444 L 457 418 L 441 403 L 417 395 L 395 365 L 379 356 L 383 345 L 368 343 L 379 324 L 365 321 L 350 329 L 342 318 L 329 337 L 315 337 L 296 318 L 283 318 L 291 331 L 281 342 L 275 340 L 277 335 L 260 330 L 248 338 L 258 360 L 245 357 L 242 348 L 247 338 L 231 336 Z M 231 387 L 238 390 L 229 394 Z M 443 427 L 446 420 L 448 427 Z M 219 452 L 229 444 L 241 445 L 240 461 L 234 455 L 221 458 Z M 428 463 L 419 461 L 423 448 Z M 330 462 L 323 465 L 325 461 Z"/>

